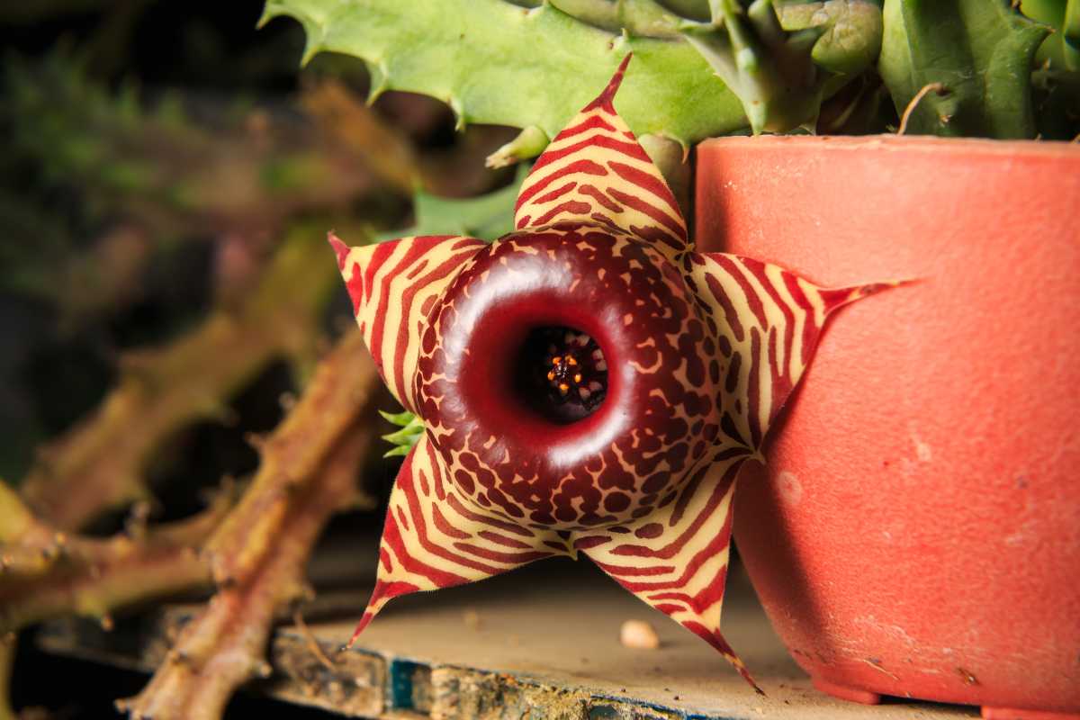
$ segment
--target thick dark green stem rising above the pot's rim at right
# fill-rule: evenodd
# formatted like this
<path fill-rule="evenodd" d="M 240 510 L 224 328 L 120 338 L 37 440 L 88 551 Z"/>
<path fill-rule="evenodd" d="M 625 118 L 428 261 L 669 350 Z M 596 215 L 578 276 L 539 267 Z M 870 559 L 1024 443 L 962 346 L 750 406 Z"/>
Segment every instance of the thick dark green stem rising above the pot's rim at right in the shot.
<path fill-rule="evenodd" d="M 913 134 L 1035 137 L 1031 60 L 1048 28 L 1009 0 L 886 0 L 878 70 Z"/>

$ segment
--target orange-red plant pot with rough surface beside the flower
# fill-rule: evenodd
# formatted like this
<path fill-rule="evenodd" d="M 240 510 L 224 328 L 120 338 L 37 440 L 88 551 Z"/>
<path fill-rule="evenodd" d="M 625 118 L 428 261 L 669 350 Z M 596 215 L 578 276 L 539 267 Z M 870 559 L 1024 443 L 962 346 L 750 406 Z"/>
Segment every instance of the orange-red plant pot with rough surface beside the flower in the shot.
<path fill-rule="evenodd" d="M 740 480 L 794 657 L 861 702 L 1080 712 L 1080 146 L 727 138 L 697 182 L 703 250 L 916 281 L 840 313 Z"/>

